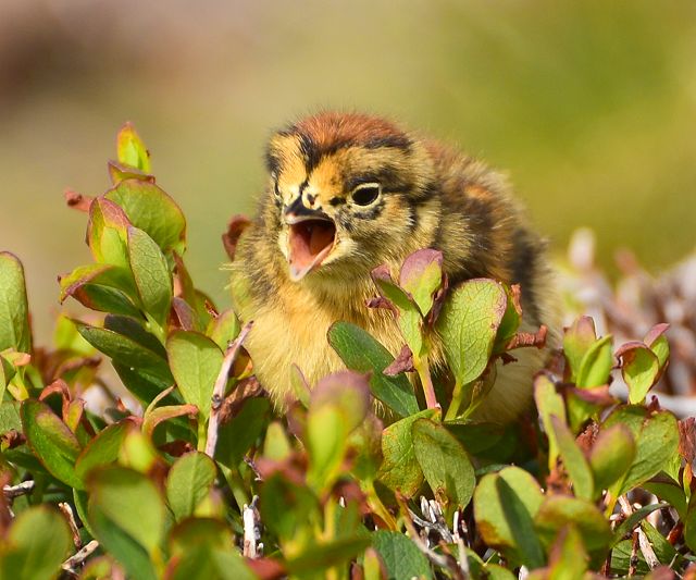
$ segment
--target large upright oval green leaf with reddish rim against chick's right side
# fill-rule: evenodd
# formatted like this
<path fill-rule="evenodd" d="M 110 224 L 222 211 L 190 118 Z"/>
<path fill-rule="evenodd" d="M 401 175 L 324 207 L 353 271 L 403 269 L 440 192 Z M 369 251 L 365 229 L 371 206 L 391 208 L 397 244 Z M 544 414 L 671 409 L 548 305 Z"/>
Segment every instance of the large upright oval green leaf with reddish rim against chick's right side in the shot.
<path fill-rule="evenodd" d="M 481 377 L 507 307 L 505 288 L 493 280 L 469 280 L 447 298 L 436 329 L 458 385 Z"/>

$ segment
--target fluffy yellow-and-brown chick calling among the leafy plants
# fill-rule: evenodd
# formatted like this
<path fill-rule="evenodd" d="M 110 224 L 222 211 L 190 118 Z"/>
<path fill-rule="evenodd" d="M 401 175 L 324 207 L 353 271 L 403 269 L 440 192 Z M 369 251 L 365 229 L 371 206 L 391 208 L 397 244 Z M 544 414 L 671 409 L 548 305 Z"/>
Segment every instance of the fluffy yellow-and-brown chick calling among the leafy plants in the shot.
<path fill-rule="evenodd" d="M 443 252 L 450 287 L 472 277 L 520 284 L 522 330 L 557 326 L 545 244 L 506 178 L 483 162 L 384 119 L 337 112 L 276 133 L 266 162 L 268 187 L 237 245 L 232 288 L 240 319 L 253 321 L 246 346 L 277 408 L 293 398 L 293 363 L 309 384 L 345 368 L 326 338 L 336 321 L 399 353 L 391 313 L 365 306 L 377 294 L 370 273 L 383 263 L 397 273 L 421 248 Z M 475 417 L 505 422 L 523 412 L 544 354 L 517 350 Z"/>

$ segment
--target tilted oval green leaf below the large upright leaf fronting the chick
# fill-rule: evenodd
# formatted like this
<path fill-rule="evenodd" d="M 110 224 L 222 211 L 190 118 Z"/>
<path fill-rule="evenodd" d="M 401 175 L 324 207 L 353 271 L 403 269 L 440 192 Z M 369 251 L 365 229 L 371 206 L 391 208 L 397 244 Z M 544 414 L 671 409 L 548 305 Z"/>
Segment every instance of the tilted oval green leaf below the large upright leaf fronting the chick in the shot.
<path fill-rule="evenodd" d="M 411 427 L 413 452 L 435 498 L 448 508 L 469 505 L 476 484 L 467 452 L 442 424 L 419 419 Z"/>

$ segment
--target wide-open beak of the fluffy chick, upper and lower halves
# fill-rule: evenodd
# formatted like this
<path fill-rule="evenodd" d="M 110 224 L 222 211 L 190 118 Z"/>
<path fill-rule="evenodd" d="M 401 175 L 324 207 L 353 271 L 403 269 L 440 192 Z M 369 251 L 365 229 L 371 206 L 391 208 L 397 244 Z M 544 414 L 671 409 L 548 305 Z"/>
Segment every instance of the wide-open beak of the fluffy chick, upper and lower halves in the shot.
<path fill-rule="evenodd" d="M 290 280 L 299 282 L 321 266 L 336 242 L 336 225 L 322 211 L 286 213 L 288 224 L 288 261 Z"/>

